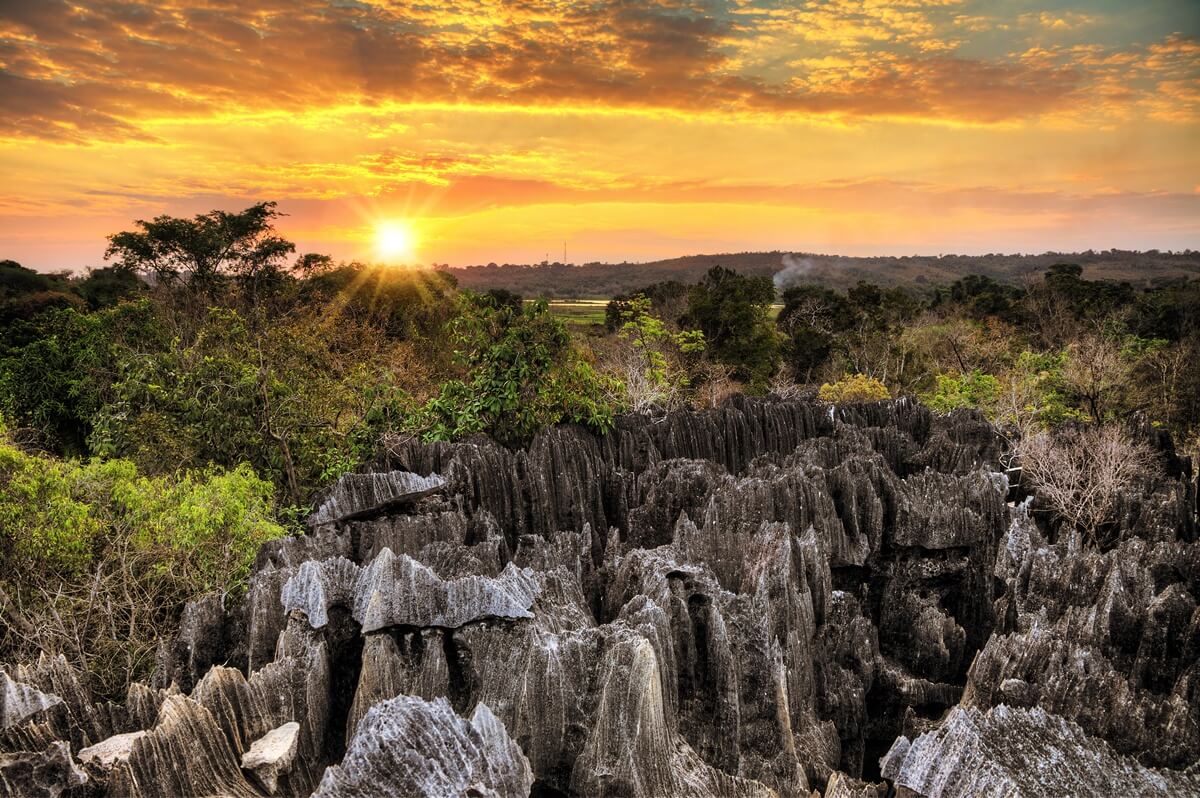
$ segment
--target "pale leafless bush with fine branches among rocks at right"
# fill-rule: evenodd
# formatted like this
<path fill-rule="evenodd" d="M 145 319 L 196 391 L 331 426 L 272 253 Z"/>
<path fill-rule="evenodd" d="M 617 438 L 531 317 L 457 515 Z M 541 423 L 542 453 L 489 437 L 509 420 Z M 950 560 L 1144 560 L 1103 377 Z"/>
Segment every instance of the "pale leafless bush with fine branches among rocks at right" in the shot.
<path fill-rule="evenodd" d="M 1117 496 L 1154 474 L 1154 454 L 1117 426 L 1088 426 L 1038 432 L 1016 446 L 1021 479 L 1064 523 L 1097 546 L 1103 527 L 1112 521 Z"/>

